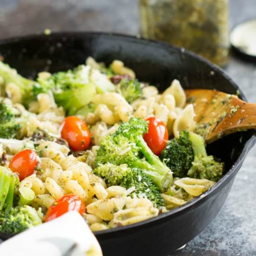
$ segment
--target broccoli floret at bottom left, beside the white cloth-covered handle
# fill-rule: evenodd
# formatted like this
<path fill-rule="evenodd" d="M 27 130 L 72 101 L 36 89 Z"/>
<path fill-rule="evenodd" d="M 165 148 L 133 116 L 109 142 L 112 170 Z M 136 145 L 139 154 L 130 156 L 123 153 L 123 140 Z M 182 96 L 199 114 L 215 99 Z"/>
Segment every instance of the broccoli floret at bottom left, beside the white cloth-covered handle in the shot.
<path fill-rule="evenodd" d="M 17 234 L 41 223 L 36 210 L 29 205 L 0 212 L 0 232 L 5 234 Z"/>

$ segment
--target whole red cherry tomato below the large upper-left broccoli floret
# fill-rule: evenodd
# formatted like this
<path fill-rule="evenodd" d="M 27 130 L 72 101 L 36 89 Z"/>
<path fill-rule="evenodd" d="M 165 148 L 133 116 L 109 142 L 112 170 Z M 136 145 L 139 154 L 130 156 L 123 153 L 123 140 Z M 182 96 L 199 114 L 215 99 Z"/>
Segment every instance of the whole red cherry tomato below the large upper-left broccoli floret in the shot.
<path fill-rule="evenodd" d="M 74 151 L 87 149 L 91 142 L 87 124 L 77 116 L 68 116 L 64 120 L 61 137 L 67 141 Z"/>

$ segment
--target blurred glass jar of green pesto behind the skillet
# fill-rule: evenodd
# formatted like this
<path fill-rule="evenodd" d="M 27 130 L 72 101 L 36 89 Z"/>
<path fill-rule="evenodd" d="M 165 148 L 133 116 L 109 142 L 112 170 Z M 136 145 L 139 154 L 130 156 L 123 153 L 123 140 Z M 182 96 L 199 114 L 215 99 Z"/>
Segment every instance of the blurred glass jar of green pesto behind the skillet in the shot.
<path fill-rule="evenodd" d="M 141 34 L 204 56 L 229 58 L 228 0 L 140 0 Z"/>

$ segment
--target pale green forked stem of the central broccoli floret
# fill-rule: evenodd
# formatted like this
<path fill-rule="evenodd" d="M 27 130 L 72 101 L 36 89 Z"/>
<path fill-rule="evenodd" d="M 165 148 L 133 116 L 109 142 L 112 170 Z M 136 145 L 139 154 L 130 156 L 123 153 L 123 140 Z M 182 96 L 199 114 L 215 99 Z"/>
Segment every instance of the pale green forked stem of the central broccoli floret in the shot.
<path fill-rule="evenodd" d="M 161 192 L 165 191 L 172 182 L 172 172 L 160 161 L 158 156 L 153 154 L 141 135 L 138 135 L 136 139 L 137 146 L 141 149 L 142 154 L 148 162 L 138 160 L 135 163 L 135 167 L 137 165 L 137 167 L 141 168 L 143 172 L 152 179 Z"/>

